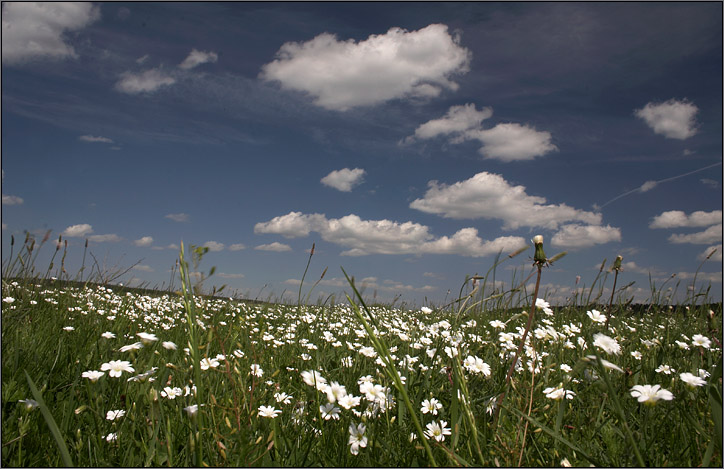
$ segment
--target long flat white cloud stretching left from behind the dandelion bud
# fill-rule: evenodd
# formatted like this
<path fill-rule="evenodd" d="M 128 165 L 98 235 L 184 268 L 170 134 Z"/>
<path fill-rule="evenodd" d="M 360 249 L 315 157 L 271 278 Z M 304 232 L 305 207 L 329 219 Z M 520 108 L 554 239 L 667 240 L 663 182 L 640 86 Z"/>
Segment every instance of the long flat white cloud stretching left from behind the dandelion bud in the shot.
<path fill-rule="evenodd" d="M 482 240 L 475 228 L 464 228 L 451 237 L 435 238 L 429 228 L 413 222 L 362 220 L 351 214 L 328 219 L 324 214 L 290 212 L 265 223 L 257 223 L 257 234 L 280 234 L 288 238 L 319 233 L 322 239 L 349 248 L 345 256 L 367 254 L 459 254 L 482 257 L 499 250 L 515 250 L 525 244 L 520 237 Z"/>

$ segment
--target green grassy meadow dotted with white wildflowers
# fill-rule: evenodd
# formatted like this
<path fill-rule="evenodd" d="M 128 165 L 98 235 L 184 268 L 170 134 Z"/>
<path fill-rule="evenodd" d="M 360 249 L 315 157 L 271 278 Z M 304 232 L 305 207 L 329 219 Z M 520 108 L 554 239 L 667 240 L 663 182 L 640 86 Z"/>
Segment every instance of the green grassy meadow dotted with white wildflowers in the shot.
<path fill-rule="evenodd" d="M 706 291 L 637 307 L 603 275 L 552 307 L 527 286 L 541 246 L 528 278 L 488 284 L 499 256 L 448 305 L 368 304 L 352 277 L 344 301 L 251 302 L 202 295 L 186 254 L 167 292 L 11 256 L 3 466 L 722 466 Z"/>

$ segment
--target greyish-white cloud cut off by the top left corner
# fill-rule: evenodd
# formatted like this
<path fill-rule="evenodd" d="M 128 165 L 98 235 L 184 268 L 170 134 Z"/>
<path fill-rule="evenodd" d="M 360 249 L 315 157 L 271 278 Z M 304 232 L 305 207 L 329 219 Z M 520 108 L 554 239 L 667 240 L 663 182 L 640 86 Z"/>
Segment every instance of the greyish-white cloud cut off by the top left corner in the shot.
<path fill-rule="evenodd" d="M 76 58 L 65 33 L 80 30 L 100 16 L 100 8 L 86 2 L 3 2 L 2 62 Z"/>

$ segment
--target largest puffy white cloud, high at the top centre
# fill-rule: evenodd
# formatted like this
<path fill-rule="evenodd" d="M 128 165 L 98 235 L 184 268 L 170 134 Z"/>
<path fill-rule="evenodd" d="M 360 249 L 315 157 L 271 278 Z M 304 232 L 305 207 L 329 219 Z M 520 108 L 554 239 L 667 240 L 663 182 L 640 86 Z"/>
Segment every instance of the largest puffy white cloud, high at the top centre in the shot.
<path fill-rule="evenodd" d="M 433 97 L 456 90 L 454 74 L 468 71 L 471 53 L 442 24 L 408 32 L 391 28 L 364 41 L 323 33 L 288 42 L 262 67 L 260 78 L 303 91 L 326 109 L 345 111 L 391 99 Z"/>

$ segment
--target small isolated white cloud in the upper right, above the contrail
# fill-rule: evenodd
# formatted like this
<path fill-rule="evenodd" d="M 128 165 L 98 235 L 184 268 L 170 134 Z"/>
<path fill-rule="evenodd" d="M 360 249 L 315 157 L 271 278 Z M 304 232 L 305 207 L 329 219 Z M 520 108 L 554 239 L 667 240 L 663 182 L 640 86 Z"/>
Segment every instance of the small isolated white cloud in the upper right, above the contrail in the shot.
<path fill-rule="evenodd" d="M 684 140 L 696 134 L 695 116 L 698 111 L 699 108 L 686 100 L 670 99 L 663 103 L 648 103 L 634 114 L 643 119 L 654 133 Z"/>

